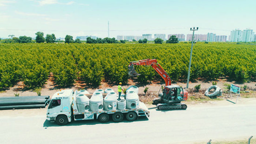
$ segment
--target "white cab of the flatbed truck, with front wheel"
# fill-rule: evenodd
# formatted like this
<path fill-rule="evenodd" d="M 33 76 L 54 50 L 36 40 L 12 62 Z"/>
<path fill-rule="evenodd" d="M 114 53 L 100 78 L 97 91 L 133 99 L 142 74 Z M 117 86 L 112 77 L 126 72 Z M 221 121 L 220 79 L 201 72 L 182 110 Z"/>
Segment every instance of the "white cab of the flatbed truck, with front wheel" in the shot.
<path fill-rule="evenodd" d="M 49 103 L 46 118 L 49 121 L 56 121 L 59 125 L 71 122 L 73 90 L 60 90 L 56 92 Z"/>

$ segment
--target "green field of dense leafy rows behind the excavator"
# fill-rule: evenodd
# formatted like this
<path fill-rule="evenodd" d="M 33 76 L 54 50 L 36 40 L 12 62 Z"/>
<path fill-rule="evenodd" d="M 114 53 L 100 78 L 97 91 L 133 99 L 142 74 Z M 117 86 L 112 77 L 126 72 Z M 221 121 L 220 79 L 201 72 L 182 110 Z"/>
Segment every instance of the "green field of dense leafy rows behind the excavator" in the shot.
<path fill-rule="evenodd" d="M 177 44 L 0 44 L 0 89 L 24 82 L 42 87 L 53 73 L 59 87 L 75 80 L 87 85 L 126 83 L 130 61 L 156 58 L 173 81 L 185 80 L 191 43 Z M 151 67 L 138 66 L 139 83 L 161 79 Z M 190 80 L 228 77 L 237 82 L 256 79 L 256 45 L 246 43 L 204 43 L 193 46 Z"/>

